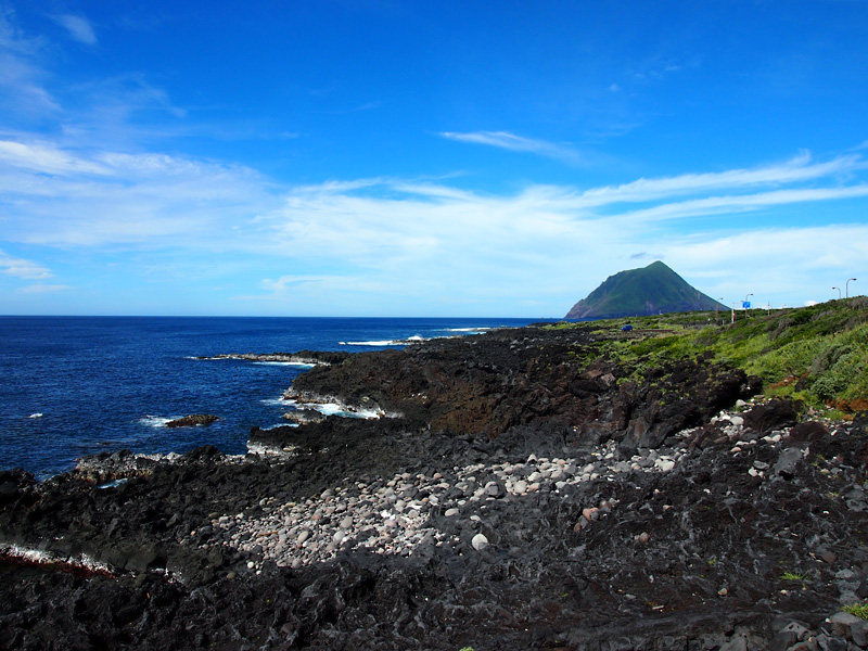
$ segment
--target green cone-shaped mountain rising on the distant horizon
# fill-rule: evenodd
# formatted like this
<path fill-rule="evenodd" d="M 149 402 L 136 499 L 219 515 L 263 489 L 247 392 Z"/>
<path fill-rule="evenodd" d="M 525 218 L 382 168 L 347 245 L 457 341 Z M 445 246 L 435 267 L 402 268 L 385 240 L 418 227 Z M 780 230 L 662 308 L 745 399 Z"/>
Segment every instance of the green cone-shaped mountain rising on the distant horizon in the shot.
<path fill-rule="evenodd" d="M 611 319 L 726 309 L 660 260 L 610 276 L 566 314 L 567 319 Z"/>

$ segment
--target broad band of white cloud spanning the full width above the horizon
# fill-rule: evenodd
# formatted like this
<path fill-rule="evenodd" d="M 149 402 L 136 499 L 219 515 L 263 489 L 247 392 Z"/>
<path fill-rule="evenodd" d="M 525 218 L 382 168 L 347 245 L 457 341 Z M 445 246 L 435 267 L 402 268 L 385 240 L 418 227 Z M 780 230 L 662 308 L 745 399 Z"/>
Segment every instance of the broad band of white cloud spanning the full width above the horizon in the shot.
<path fill-rule="evenodd" d="M 190 271 L 181 282 L 200 267 L 238 269 L 255 282 L 232 292 L 254 311 L 311 314 L 329 304 L 332 314 L 370 305 L 373 314 L 397 315 L 436 302 L 439 314 L 502 314 L 509 305 L 515 315 L 558 317 L 608 276 L 639 266 L 636 252 L 652 252 L 715 297 L 755 292 L 758 304 L 793 304 L 799 295 L 828 294 L 825 286 L 837 282 L 830 276 L 858 276 L 868 227 L 817 218 L 810 228 L 770 229 L 764 210 L 864 197 L 863 167 L 859 156 L 816 163 L 801 155 L 753 169 L 492 195 L 448 179 L 292 188 L 242 166 L 7 138 L 0 232 L 10 242 L 84 248 L 93 257 L 141 252 L 125 261 L 135 265 L 126 273 L 145 276 L 155 257 L 182 259 Z M 731 232 L 717 220 L 713 232 L 684 234 L 694 217 L 744 210 L 757 214 L 750 231 Z M 4 273 L 50 276 L 35 263 L 7 261 Z M 52 286 L 63 289 L 36 283 L 25 291 Z"/>

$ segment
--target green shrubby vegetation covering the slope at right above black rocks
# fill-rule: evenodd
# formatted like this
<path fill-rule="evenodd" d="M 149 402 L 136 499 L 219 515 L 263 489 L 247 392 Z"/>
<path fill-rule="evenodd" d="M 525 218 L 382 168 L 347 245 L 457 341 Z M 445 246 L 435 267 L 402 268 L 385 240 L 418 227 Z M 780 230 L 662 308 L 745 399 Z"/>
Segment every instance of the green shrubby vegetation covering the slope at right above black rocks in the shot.
<path fill-rule="evenodd" d="M 667 360 L 711 355 L 760 376 L 766 395 L 834 410 L 837 417 L 868 408 L 868 297 L 736 317 L 730 323 L 729 311 L 682 312 L 552 328 L 607 332 L 598 356 L 624 363 L 630 380 L 644 379 Z M 626 323 L 633 332 L 621 332 Z"/>

